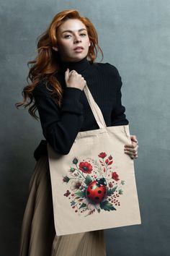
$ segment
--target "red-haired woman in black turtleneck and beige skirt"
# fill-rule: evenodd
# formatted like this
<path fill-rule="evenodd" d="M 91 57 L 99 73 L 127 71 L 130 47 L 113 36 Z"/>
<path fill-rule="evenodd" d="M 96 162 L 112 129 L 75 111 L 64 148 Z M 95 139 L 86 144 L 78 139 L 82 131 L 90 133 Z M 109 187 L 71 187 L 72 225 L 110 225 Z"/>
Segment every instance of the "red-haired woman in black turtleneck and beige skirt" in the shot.
<path fill-rule="evenodd" d="M 104 231 L 56 236 L 53 223 L 47 141 L 56 152 L 66 155 L 80 131 L 99 129 L 84 94 L 88 85 L 99 105 L 107 127 L 128 124 L 121 103 L 122 81 L 117 68 L 109 63 L 95 63 L 97 31 L 76 10 L 55 15 L 48 30 L 37 43 L 38 55 L 29 76 L 31 84 L 24 90 L 33 106 L 29 112 L 37 119 L 38 110 L 42 140 L 35 150 L 35 171 L 30 181 L 30 195 L 25 209 L 20 243 L 20 256 L 104 256 Z M 103 56 L 103 54 L 102 54 Z M 87 59 L 89 58 L 89 60 Z M 138 141 L 125 145 L 130 158 L 138 157 Z"/>

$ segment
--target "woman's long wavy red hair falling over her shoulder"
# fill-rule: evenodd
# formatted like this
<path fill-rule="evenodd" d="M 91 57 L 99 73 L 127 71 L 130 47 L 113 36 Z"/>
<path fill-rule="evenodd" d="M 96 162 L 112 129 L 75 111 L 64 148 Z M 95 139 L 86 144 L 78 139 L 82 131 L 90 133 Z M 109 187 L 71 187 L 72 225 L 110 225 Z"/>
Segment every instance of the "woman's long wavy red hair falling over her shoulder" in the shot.
<path fill-rule="evenodd" d="M 57 38 L 57 30 L 60 25 L 63 24 L 68 19 L 78 19 L 84 23 L 86 26 L 87 33 L 89 35 L 89 40 L 91 42 L 91 46 L 89 46 L 89 51 L 87 57 L 91 62 L 97 58 L 98 51 L 102 54 L 102 49 L 98 44 L 98 35 L 97 30 L 94 25 L 87 17 L 81 17 L 79 12 L 74 9 L 64 10 L 63 12 L 58 12 L 58 14 L 53 17 L 52 22 L 50 23 L 48 29 L 37 37 L 37 56 L 34 60 L 27 62 L 27 66 L 31 64 L 30 71 L 27 76 L 28 85 L 25 86 L 22 90 L 22 96 L 24 101 L 15 103 L 15 106 L 18 108 L 19 106 L 30 106 L 28 112 L 35 119 L 39 119 L 39 117 L 35 114 L 37 111 L 37 106 L 35 103 L 35 98 L 32 95 L 32 90 L 34 90 L 35 86 L 41 82 L 45 81 L 45 86 L 48 90 L 48 83 L 52 85 L 52 90 L 50 90 L 53 96 L 55 103 L 61 107 L 62 98 L 63 98 L 63 89 L 61 88 L 60 82 L 58 82 L 55 77 L 55 73 L 58 72 L 59 69 L 59 61 L 58 61 L 58 52 L 53 50 L 53 47 L 56 46 L 58 42 Z M 30 84 L 28 80 L 30 79 Z M 27 101 L 28 98 L 28 101 Z"/>

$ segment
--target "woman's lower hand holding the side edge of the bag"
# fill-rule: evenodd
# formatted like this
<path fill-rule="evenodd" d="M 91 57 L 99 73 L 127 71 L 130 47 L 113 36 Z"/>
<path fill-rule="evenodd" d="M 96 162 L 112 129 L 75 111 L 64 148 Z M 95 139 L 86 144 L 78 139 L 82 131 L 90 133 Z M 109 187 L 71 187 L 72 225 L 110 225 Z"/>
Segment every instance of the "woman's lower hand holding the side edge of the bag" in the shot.
<path fill-rule="evenodd" d="M 130 156 L 130 158 L 138 158 L 138 140 L 135 135 L 130 135 L 132 144 L 126 144 L 124 151 Z"/>

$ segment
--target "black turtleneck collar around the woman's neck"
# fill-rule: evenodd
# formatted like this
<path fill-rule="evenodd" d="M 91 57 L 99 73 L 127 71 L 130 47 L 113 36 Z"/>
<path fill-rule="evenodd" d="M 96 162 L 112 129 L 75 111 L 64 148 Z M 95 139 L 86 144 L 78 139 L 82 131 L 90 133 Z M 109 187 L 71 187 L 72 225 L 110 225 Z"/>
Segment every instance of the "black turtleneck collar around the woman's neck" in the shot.
<path fill-rule="evenodd" d="M 59 61 L 59 67 L 60 70 L 63 72 L 66 72 L 66 69 L 68 68 L 70 71 L 71 70 L 76 70 L 76 72 L 82 72 L 85 69 L 87 69 L 89 67 L 89 61 L 88 59 L 86 59 L 86 57 L 84 57 L 84 59 L 81 59 L 80 61 L 77 62 L 71 62 L 71 61 Z"/>

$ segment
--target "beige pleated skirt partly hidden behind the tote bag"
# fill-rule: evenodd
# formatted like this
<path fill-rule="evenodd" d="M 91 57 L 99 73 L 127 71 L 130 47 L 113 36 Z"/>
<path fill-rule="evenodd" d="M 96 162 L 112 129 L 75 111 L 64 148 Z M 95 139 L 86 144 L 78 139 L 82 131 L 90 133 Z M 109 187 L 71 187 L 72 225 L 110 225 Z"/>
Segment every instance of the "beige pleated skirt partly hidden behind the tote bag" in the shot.
<path fill-rule="evenodd" d="M 103 230 L 66 236 L 55 234 L 46 155 L 37 161 L 30 180 L 19 245 L 19 256 L 106 256 Z"/>

